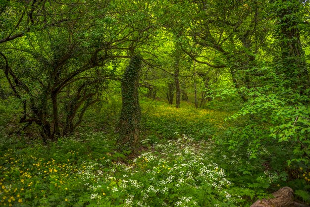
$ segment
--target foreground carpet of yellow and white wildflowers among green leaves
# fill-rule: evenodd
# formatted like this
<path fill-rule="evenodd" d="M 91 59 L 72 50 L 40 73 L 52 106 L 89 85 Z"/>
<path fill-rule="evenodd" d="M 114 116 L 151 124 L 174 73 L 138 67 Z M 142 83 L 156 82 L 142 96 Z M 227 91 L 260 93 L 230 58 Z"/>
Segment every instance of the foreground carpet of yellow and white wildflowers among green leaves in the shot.
<path fill-rule="evenodd" d="M 111 153 L 115 139 L 101 133 L 59 139 L 45 154 L 47 147 L 40 144 L 26 148 L 15 144 L 14 150 L 2 145 L 1 205 L 235 206 L 246 202 L 224 170 L 209 160 L 212 143 L 197 144 L 185 135 L 163 144 L 153 145 L 149 139 L 142 143 L 153 147 L 127 163 L 116 162 L 119 154 Z"/>

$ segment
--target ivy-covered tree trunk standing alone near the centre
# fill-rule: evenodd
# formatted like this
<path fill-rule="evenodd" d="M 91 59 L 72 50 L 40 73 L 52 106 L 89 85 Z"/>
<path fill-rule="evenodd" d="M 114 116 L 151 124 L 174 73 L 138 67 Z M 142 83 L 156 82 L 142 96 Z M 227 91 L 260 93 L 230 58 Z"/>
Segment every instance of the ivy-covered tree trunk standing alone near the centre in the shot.
<path fill-rule="evenodd" d="M 121 80 L 122 109 L 119 118 L 120 150 L 135 150 L 139 142 L 141 108 L 138 99 L 141 57 L 133 56 Z"/>

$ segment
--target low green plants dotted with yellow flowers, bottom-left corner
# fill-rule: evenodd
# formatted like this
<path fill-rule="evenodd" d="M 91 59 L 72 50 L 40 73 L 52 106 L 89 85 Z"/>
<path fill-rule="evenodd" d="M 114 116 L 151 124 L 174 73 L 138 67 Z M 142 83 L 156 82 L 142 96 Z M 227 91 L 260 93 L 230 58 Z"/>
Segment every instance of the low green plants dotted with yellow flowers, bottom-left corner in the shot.
<path fill-rule="evenodd" d="M 109 136 L 107 140 L 101 133 L 80 134 L 79 139 L 59 139 L 49 147 L 34 144 L 25 148 L 22 139 L 17 143 L 1 143 L 1 206 L 87 203 L 83 200 L 88 195 L 83 192 L 85 181 L 77 178 L 86 170 L 86 160 L 110 165 L 105 160 L 111 158 L 109 152 L 115 139 Z M 8 144 L 14 147 L 7 149 Z"/>

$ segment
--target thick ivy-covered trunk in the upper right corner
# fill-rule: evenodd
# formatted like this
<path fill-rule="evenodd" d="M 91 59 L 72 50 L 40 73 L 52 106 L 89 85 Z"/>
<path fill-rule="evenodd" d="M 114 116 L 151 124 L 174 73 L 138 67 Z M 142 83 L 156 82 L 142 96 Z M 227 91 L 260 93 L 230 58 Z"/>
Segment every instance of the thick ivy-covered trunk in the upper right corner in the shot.
<path fill-rule="evenodd" d="M 282 41 L 282 74 L 286 87 L 309 87 L 305 52 L 300 41 L 303 5 L 299 0 L 279 0 L 275 4 L 279 20 L 279 38 Z"/>

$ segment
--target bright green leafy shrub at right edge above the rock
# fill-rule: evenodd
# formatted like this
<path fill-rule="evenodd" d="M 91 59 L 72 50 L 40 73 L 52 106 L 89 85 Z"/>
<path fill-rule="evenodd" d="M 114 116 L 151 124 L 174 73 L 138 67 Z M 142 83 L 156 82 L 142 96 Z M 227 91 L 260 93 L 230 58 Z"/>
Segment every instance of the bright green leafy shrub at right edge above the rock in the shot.
<path fill-rule="evenodd" d="M 277 90 L 270 92 L 270 85 L 246 90 L 251 99 L 230 117 L 246 122 L 230 128 L 215 141 L 229 150 L 228 156 L 248 159 L 234 165 L 234 174 L 249 175 L 240 179 L 249 187 L 276 188 L 276 183 L 287 183 L 293 189 L 309 191 L 310 108 L 305 104 L 309 102 L 305 95 L 308 91 L 299 95 L 292 89 Z M 297 182 L 299 178 L 304 180 Z"/>

